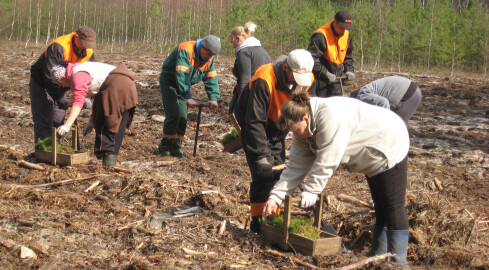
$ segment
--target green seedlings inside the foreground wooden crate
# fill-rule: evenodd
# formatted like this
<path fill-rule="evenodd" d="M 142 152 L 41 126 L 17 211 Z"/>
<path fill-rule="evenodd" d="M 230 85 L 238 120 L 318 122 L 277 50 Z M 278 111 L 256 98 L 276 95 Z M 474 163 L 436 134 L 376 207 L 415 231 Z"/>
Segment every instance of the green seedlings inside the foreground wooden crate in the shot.
<path fill-rule="evenodd" d="M 265 224 L 283 229 L 284 216 L 269 218 L 265 221 Z M 321 232 L 312 224 L 312 220 L 298 217 L 290 218 L 289 233 L 302 235 L 312 240 L 321 238 Z"/>

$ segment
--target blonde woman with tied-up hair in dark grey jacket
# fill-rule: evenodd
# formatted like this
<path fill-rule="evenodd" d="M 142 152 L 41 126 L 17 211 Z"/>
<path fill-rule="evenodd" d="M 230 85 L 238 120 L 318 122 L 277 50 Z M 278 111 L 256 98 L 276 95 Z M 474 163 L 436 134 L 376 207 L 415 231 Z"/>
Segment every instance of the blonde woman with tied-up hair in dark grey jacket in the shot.
<path fill-rule="evenodd" d="M 232 72 L 237 79 L 233 97 L 229 102 L 229 114 L 233 113 L 239 95 L 250 82 L 255 71 L 263 64 L 272 62 L 272 58 L 261 46 L 261 42 L 253 37 L 255 30 L 256 24 L 247 22 L 244 26 L 233 28 L 228 35 L 229 42 L 236 49 L 236 61 Z"/>

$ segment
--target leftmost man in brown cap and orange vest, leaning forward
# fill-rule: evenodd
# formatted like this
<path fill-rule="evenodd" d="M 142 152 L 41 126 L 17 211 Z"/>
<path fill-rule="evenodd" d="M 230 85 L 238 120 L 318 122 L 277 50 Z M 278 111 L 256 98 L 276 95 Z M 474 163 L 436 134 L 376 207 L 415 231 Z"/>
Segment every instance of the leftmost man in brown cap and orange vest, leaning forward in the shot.
<path fill-rule="evenodd" d="M 95 31 L 89 26 L 80 26 L 76 32 L 52 41 L 37 62 L 31 66 L 29 94 L 34 122 L 34 143 L 51 137 L 52 127 L 63 125 L 66 109 L 69 107 L 66 100 L 66 91 L 69 88 L 52 81 L 53 67 L 95 61 L 93 48 L 95 48 Z"/>

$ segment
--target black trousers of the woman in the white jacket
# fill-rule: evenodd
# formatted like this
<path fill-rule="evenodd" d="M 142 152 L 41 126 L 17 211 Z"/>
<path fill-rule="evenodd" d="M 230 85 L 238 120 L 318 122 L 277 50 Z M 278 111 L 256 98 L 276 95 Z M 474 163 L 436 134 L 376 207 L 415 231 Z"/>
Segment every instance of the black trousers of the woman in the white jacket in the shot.
<path fill-rule="evenodd" d="M 407 186 L 407 156 L 389 170 L 367 177 L 375 204 L 375 224 L 388 230 L 407 230 L 405 207 Z"/>

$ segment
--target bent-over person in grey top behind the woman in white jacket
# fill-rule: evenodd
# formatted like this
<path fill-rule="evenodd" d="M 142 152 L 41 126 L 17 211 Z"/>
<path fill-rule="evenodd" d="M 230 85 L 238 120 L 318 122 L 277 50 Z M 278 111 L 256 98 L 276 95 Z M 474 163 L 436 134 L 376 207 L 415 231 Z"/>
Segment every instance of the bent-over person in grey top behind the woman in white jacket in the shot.
<path fill-rule="evenodd" d="M 375 80 L 350 94 L 363 102 L 384 107 L 402 118 L 406 126 L 421 103 L 421 89 L 415 82 L 400 76 Z"/>

